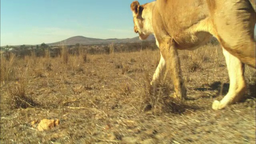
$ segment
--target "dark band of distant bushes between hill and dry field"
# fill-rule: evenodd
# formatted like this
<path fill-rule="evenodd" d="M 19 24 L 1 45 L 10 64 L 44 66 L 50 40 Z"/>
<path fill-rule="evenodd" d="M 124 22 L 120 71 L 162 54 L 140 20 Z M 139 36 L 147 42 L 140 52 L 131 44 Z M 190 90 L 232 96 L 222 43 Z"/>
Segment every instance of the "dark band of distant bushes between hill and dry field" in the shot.
<path fill-rule="evenodd" d="M 79 54 L 79 50 L 86 50 L 86 54 L 110 54 L 113 52 L 136 52 L 141 50 L 156 50 L 154 41 L 142 41 L 142 42 L 127 42 L 127 43 L 117 43 L 117 44 L 90 44 L 90 45 L 67 45 L 65 46 L 66 53 L 71 55 Z M 10 46 L 9 46 L 10 48 Z M 1 47 L 2 51 L 9 50 L 6 47 Z M 48 50 L 50 57 L 56 57 L 61 55 L 62 49 L 59 46 L 48 46 L 45 43 L 42 43 L 40 46 L 26 46 L 22 45 L 19 48 L 14 47 L 11 52 L 17 57 L 24 58 L 24 56 L 30 56 L 32 52 L 36 57 L 44 57 L 45 50 Z M 81 52 L 81 51 L 80 51 Z"/>

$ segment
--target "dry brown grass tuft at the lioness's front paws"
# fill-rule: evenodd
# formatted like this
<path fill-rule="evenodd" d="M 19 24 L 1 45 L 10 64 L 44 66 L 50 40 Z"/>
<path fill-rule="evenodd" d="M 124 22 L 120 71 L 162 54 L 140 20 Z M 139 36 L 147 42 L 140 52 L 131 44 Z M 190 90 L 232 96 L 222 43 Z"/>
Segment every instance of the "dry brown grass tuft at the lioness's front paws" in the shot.
<path fill-rule="evenodd" d="M 152 110 L 153 114 L 162 112 L 182 113 L 188 107 L 187 104 L 178 98 L 172 97 L 173 84 L 166 78 L 150 85 L 150 77 L 147 70 L 144 70 L 145 95 L 142 96 L 142 110 Z"/>

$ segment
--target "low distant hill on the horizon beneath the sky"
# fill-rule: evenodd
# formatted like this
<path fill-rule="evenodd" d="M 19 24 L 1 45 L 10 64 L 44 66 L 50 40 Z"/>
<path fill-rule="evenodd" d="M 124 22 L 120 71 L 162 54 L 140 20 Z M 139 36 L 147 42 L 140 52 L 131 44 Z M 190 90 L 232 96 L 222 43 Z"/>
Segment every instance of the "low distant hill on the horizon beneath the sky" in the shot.
<path fill-rule="evenodd" d="M 147 39 L 147 41 L 155 40 L 154 35 L 150 35 Z M 73 36 L 71 38 L 68 38 L 66 40 L 62 40 L 60 42 L 54 42 L 47 44 L 49 46 L 58 46 L 59 44 L 62 45 L 74 45 L 74 44 L 104 44 L 104 43 L 126 43 L 126 42 L 142 42 L 138 36 L 134 38 L 109 38 L 109 39 L 100 39 L 100 38 L 87 38 L 84 36 Z"/>

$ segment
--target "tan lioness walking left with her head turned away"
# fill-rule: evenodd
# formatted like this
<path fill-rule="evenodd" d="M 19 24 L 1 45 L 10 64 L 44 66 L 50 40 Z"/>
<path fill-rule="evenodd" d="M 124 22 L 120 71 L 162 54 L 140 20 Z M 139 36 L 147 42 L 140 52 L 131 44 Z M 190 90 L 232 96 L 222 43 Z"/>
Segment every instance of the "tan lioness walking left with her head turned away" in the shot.
<path fill-rule="evenodd" d="M 255 68 L 255 11 L 249 0 L 157 0 L 130 5 L 134 32 L 141 40 L 156 37 L 161 58 L 152 83 L 164 66 L 172 74 L 175 96 L 186 97 L 177 50 L 194 50 L 215 36 L 222 45 L 228 67 L 228 94 L 212 104 L 219 110 L 240 101 L 246 90 L 244 64 Z"/>

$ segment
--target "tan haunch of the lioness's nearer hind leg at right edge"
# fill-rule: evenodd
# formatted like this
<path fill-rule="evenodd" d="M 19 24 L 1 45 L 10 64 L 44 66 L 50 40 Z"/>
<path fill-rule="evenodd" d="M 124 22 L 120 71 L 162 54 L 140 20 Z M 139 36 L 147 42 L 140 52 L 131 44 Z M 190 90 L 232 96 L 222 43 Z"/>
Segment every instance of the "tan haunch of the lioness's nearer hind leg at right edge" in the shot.
<path fill-rule="evenodd" d="M 248 0 L 223 0 L 213 14 L 216 36 L 222 46 L 244 64 L 256 68 L 255 11 Z"/>

